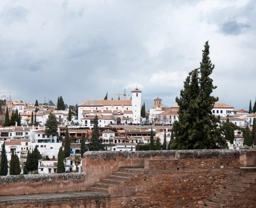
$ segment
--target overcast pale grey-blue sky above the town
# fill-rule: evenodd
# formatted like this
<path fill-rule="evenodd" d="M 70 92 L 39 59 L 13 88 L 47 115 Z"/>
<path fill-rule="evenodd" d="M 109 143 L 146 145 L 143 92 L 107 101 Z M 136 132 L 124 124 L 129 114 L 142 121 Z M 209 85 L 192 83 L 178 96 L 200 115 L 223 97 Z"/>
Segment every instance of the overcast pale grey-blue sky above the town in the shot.
<path fill-rule="evenodd" d="M 256 97 L 255 19 L 255 0 L 0 0 L 0 92 L 76 104 L 138 85 L 171 105 L 209 40 L 214 95 L 242 108 Z"/>

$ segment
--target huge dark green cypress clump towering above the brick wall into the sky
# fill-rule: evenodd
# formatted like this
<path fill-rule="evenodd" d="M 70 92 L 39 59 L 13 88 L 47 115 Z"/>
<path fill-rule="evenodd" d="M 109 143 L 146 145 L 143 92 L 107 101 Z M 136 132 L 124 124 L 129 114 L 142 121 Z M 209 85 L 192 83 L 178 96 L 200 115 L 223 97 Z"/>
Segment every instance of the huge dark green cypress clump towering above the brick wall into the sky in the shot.
<path fill-rule="evenodd" d="M 218 127 L 219 120 L 211 113 L 214 103 L 218 101 L 218 97 L 211 96 L 216 89 L 210 78 L 213 69 L 206 41 L 200 68 L 189 73 L 180 97 L 176 97 L 180 109 L 172 149 L 226 148 L 225 139 Z"/>

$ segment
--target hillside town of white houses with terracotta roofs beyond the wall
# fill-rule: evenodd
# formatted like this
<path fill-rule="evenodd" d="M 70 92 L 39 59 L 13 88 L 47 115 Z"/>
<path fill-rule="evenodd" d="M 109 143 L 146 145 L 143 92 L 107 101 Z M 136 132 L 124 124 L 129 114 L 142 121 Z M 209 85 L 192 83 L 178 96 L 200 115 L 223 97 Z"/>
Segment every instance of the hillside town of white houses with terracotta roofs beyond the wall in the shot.
<path fill-rule="evenodd" d="M 163 107 L 163 100 L 157 97 L 146 112 L 141 97 L 142 91 L 135 88 L 129 98 L 108 100 L 106 95 L 103 100 L 86 100 L 75 106 L 65 104 L 62 97 L 58 97 L 57 105 L 51 100 L 44 104 L 36 100 L 33 104 L 1 99 L 0 151 L 4 148 L 6 153 L 7 175 L 15 157 L 19 159 L 20 174 L 57 173 L 60 149 L 63 172 L 81 172 L 81 156 L 94 150 L 90 145 L 94 129 L 98 130 L 102 151 L 148 150 L 152 141 L 155 149 L 171 149 L 173 124 L 179 121 L 178 104 Z M 251 101 L 248 110 L 214 104 L 212 115 L 229 131 L 223 133 L 226 148 L 248 149 L 255 145 L 256 141 L 248 138 L 255 128 L 255 111 L 256 104 L 252 107 Z M 47 121 L 52 119 L 56 129 L 50 132 L 53 126 Z"/>

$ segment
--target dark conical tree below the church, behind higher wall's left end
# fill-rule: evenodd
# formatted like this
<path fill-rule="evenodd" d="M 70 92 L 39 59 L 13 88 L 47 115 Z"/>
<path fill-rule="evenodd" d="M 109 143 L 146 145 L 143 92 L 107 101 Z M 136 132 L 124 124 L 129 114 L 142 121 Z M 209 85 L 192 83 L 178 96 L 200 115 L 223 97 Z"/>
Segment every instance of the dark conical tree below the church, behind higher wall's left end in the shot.
<path fill-rule="evenodd" d="M 93 119 L 93 130 L 92 138 L 89 143 L 90 151 L 99 151 L 102 149 L 102 139 L 99 138 L 99 126 L 98 126 L 98 116 L 96 115 Z"/>

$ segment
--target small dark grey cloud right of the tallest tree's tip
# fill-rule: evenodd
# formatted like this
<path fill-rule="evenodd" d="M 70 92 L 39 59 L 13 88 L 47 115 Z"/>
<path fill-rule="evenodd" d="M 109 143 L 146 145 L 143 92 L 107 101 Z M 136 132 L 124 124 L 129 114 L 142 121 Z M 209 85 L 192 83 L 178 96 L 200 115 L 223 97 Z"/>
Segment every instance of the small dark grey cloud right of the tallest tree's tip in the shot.
<path fill-rule="evenodd" d="M 220 26 L 221 31 L 226 35 L 239 35 L 242 30 L 249 28 L 248 24 L 238 23 L 237 21 L 225 22 Z"/>

